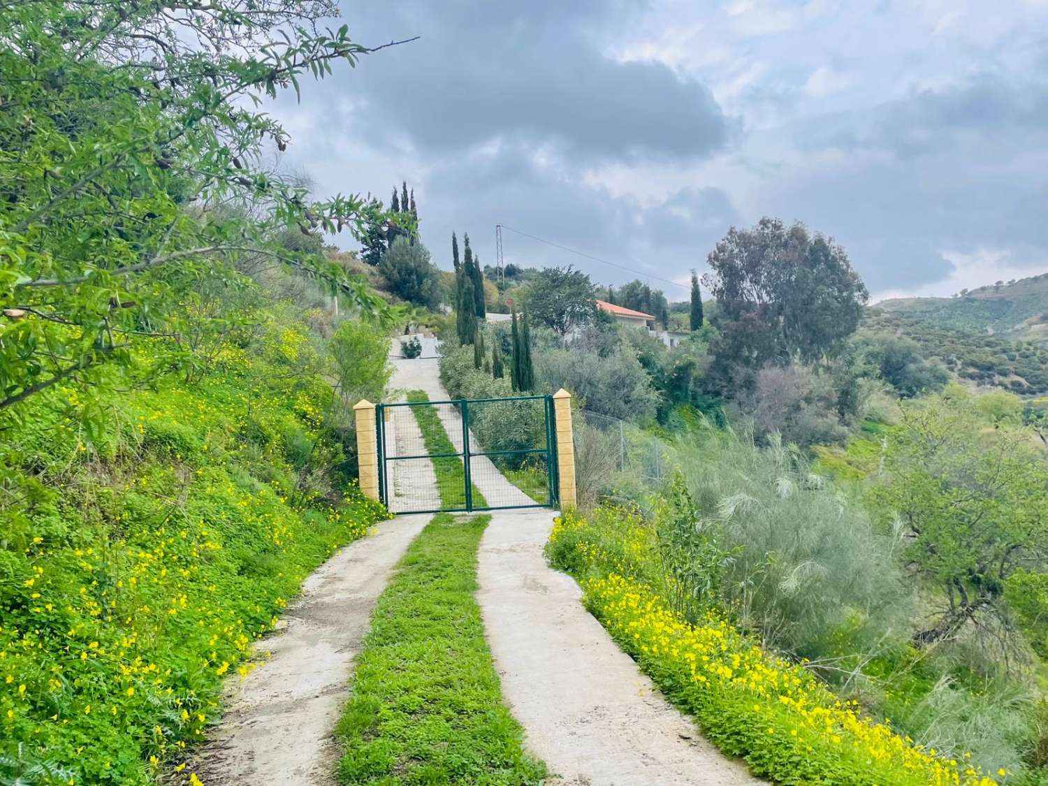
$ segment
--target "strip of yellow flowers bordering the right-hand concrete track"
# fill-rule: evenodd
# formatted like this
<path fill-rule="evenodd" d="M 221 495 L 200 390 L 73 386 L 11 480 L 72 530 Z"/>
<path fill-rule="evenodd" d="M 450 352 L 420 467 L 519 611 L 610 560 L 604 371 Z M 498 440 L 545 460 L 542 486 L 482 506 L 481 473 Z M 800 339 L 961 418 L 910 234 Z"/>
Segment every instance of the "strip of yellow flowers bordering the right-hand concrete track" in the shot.
<path fill-rule="evenodd" d="M 855 702 L 837 699 L 810 672 L 765 652 L 722 616 L 709 612 L 696 625 L 683 619 L 659 591 L 670 580 L 658 587 L 648 581 L 655 532 L 640 517 L 617 509 L 567 514 L 554 521 L 549 544 L 624 649 L 653 675 L 683 686 L 712 739 L 747 758 L 757 752 L 764 774 L 804 780 L 791 764 L 803 761 L 813 777 L 835 773 L 832 782 L 999 783 L 967 766 L 967 757 L 959 763 L 897 734 L 887 720 L 861 715 Z M 774 759 L 780 764 L 767 764 Z"/>

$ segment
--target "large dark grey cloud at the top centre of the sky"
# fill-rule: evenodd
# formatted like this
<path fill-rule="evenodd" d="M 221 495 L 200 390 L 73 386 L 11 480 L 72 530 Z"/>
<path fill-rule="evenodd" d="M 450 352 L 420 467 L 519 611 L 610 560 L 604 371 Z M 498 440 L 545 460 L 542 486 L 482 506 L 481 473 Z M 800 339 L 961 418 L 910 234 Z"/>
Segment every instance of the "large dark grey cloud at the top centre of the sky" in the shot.
<path fill-rule="evenodd" d="M 434 154 L 507 138 L 575 159 L 707 155 L 730 124 L 704 85 L 601 51 L 612 12 L 635 5 L 403 0 L 347 8 L 359 40 L 421 36 L 353 74 L 366 101 L 362 131 L 374 145 L 402 134 Z"/>

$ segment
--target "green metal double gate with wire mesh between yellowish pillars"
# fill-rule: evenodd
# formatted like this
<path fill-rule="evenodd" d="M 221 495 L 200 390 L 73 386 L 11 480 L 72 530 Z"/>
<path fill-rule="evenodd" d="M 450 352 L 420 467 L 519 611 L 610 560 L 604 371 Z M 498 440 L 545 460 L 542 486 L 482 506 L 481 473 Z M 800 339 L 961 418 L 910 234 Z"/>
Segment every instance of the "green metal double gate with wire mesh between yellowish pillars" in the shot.
<path fill-rule="evenodd" d="M 375 417 L 378 493 L 392 512 L 556 504 L 551 396 L 379 403 Z"/>

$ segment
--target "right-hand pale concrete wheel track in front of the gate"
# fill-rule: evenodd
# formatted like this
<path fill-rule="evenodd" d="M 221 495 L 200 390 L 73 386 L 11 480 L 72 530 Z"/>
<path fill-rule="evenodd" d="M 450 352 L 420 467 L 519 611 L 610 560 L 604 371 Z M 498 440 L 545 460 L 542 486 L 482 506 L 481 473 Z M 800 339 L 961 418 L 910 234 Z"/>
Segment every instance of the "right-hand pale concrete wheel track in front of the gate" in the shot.
<path fill-rule="evenodd" d="M 587 786 L 758 784 L 699 735 L 546 564 L 549 510 L 496 512 L 478 553 L 477 601 L 528 748 Z"/>

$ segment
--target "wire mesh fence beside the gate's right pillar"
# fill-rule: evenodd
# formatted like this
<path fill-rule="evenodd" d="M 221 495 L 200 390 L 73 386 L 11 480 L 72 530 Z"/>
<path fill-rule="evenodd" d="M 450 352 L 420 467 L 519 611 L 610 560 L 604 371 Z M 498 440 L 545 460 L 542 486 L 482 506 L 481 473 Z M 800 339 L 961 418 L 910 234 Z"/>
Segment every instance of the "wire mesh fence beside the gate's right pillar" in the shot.
<path fill-rule="evenodd" d="M 582 410 L 574 415 L 575 484 L 582 506 L 633 498 L 678 466 L 672 445 L 636 423 Z"/>

